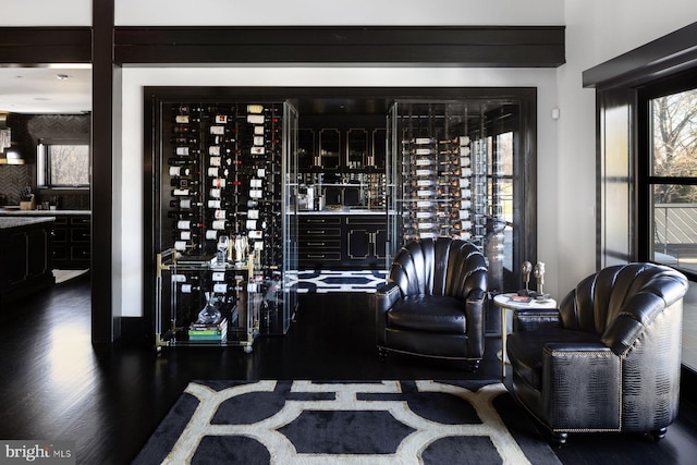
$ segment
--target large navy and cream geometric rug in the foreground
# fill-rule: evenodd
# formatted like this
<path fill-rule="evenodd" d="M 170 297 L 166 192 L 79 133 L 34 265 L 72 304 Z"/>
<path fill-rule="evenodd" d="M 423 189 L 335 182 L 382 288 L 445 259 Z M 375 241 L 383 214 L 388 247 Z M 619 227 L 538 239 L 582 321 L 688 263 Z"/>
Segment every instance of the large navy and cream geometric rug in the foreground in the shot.
<path fill-rule="evenodd" d="M 197 381 L 133 464 L 559 464 L 516 407 L 500 382 Z"/>

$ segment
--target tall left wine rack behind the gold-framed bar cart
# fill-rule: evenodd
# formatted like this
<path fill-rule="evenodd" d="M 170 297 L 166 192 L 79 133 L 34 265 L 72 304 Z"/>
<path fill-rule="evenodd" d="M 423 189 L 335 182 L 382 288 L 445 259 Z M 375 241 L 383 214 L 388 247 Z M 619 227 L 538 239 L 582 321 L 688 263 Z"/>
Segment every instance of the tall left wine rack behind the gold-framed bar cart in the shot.
<path fill-rule="evenodd" d="M 193 332 L 206 308 L 225 322 L 215 343 L 248 348 L 257 334 L 285 333 L 295 307 L 285 286 L 296 253 L 284 181 L 293 178 L 294 109 L 175 101 L 159 114 L 161 333 L 170 343 L 208 342 Z"/>

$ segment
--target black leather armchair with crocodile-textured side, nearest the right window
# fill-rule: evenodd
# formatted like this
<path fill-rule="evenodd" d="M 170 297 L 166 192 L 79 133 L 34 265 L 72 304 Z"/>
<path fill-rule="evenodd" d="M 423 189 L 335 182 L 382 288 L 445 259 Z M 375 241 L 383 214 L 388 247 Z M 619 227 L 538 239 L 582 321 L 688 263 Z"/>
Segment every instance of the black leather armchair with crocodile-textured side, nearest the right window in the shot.
<path fill-rule="evenodd" d="M 516 310 L 506 350 L 518 401 L 563 444 L 568 432 L 665 436 L 677 415 L 687 279 L 658 265 L 606 268 L 558 310 Z"/>

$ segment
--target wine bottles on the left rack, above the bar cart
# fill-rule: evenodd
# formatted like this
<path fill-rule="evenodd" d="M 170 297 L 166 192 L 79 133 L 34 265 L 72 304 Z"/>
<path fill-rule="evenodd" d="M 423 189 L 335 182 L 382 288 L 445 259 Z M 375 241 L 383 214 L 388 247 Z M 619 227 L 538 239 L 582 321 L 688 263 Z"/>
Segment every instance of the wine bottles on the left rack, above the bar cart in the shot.
<path fill-rule="evenodd" d="M 274 105 L 172 109 L 173 246 L 183 255 L 215 254 L 220 236 L 230 254 L 255 250 L 276 269 L 281 243 L 281 109 Z"/>

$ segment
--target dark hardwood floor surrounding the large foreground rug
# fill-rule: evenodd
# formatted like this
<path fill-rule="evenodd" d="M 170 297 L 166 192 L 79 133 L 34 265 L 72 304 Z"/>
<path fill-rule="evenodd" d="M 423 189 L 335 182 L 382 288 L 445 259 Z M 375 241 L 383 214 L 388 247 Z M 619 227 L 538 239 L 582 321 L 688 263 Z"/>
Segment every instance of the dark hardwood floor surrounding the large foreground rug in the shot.
<path fill-rule="evenodd" d="M 81 464 L 127 464 L 195 379 L 497 379 L 500 341 L 487 339 L 476 372 L 406 356 L 381 362 L 374 346 L 370 294 L 301 296 L 285 336 L 241 348 L 90 343 L 89 278 L 3 305 L 0 311 L 0 439 L 71 440 Z M 658 443 L 639 435 L 572 435 L 555 450 L 564 464 L 697 462 L 689 405 Z M 542 439 L 540 438 L 540 441 Z"/>

